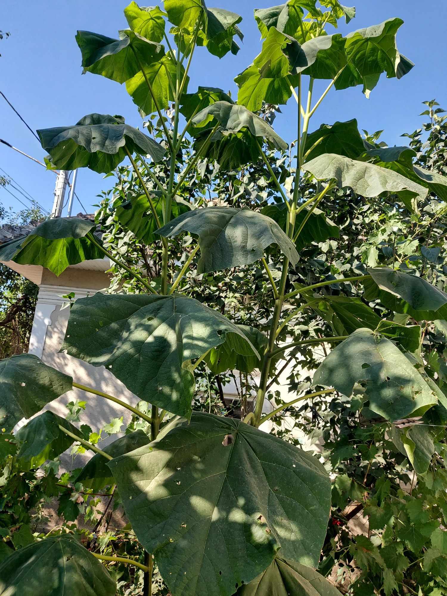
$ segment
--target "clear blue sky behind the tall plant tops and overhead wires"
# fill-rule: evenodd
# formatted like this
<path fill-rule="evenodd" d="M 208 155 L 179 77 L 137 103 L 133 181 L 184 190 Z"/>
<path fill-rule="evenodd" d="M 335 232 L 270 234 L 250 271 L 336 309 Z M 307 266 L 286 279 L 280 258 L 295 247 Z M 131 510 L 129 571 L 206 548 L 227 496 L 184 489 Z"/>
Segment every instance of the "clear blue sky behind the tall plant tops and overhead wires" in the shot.
<path fill-rule="evenodd" d="M 130 1 L 130 0 L 129 0 Z M 153 2 L 154 3 L 154 2 Z M 125 90 L 113 81 L 97 75 L 81 76 L 80 52 L 75 42 L 77 29 L 91 30 L 115 37 L 126 27 L 122 14 L 128 2 L 122 0 L 2 0 L 0 29 L 11 33 L 0 42 L 0 90 L 33 129 L 72 125 L 91 112 L 122 114 L 126 122 L 141 126 L 136 106 Z M 145 3 L 143 3 L 145 4 Z M 272 0 L 220 0 L 219 7 L 243 16 L 244 43 L 237 56 L 222 60 L 198 48 L 191 67 L 190 91 L 198 85 L 218 86 L 237 95 L 234 77 L 244 70 L 260 51 L 259 32 L 253 8 L 265 8 Z M 344 2 L 351 4 L 351 2 Z M 356 18 L 340 28 L 342 33 L 401 17 L 405 23 L 398 32 L 398 48 L 416 64 L 401 80 L 381 77 L 365 99 L 361 88 L 334 91 L 325 99 L 311 121 L 311 131 L 321 123 L 356 117 L 360 129 L 370 132 L 384 129 L 383 139 L 390 145 L 405 144 L 399 138 L 412 132 L 423 120 L 421 102 L 436 98 L 447 109 L 445 55 L 447 41 L 446 0 L 430 2 L 430 16 L 423 14 L 419 0 L 359 0 Z M 331 29 L 331 28 L 330 28 Z M 332 33 L 334 30 L 328 30 Z M 315 97 L 327 82 L 315 85 Z M 320 84 L 321 83 L 321 84 Z M 290 101 L 275 120 L 275 129 L 286 141 L 294 138 L 296 104 Z M 45 152 L 26 126 L 0 97 L 0 138 L 36 159 Z M 51 209 L 55 175 L 20 154 L 0 144 L 0 167 L 46 209 Z M 0 174 L 3 173 L 0 170 Z M 111 178 L 82 169 L 76 191 L 86 209 L 97 202 L 95 195 L 109 188 Z M 13 190 L 13 189 L 11 189 Z M 20 198 L 17 191 L 13 192 Z M 0 189 L 5 206 L 20 209 L 10 194 Z M 75 203 L 74 213 L 81 209 Z M 65 215 L 65 212 L 63 213 Z"/>

